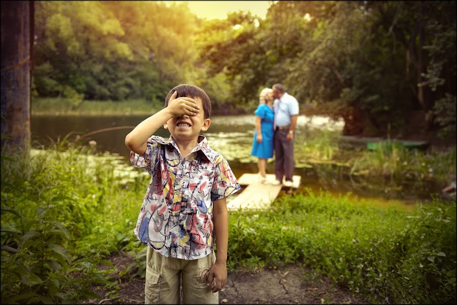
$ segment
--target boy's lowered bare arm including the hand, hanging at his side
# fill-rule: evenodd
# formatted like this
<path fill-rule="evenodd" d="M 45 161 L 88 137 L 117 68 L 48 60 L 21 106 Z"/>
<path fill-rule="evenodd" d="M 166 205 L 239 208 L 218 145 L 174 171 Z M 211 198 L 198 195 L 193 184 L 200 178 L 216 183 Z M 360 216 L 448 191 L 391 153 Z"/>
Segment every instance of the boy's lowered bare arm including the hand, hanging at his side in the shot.
<path fill-rule="evenodd" d="M 213 222 L 216 233 L 216 262 L 208 275 L 208 286 L 216 279 L 216 285 L 211 289 L 217 292 L 227 282 L 227 246 L 228 246 L 228 212 L 225 197 L 213 201 Z"/>

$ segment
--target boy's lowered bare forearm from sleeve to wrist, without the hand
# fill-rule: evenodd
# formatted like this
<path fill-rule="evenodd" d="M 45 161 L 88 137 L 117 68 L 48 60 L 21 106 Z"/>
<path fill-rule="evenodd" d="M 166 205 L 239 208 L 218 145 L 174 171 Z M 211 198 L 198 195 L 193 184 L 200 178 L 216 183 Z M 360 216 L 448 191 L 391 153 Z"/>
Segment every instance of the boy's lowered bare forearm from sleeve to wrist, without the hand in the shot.
<path fill-rule="evenodd" d="M 227 246 L 228 246 L 228 212 L 225 203 L 219 202 L 215 207 L 213 202 L 213 222 L 216 233 L 216 263 L 227 263 Z"/>

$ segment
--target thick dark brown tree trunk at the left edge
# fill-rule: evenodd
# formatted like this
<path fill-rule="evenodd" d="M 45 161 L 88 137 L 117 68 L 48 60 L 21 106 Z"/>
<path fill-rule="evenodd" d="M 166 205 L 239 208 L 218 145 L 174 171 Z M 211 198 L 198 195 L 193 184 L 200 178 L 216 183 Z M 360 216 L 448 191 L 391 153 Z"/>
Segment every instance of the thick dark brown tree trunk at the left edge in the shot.
<path fill-rule="evenodd" d="M 30 142 L 31 48 L 34 3 L 2 1 L 2 139 L 10 147 L 27 147 Z"/>

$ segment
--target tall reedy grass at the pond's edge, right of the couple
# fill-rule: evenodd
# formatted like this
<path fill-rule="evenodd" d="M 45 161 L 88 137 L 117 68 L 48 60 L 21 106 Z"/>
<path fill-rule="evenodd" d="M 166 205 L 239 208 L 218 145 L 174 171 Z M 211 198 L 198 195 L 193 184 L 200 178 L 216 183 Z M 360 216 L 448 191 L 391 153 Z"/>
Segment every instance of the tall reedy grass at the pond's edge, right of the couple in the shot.
<path fill-rule="evenodd" d="M 365 148 L 347 149 L 339 143 L 339 133 L 324 130 L 319 134 L 297 139 L 294 154 L 302 163 L 333 163 L 342 166 L 347 176 L 385 177 L 396 180 L 435 180 L 446 186 L 455 181 L 456 149 L 430 148 L 427 151 L 408 149 L 395 141 L 386 141 L 374 151 Z M 320 168 L 322 169 L 322 168 Z M 328 167 L 334 171 L 334 167 Z"/>

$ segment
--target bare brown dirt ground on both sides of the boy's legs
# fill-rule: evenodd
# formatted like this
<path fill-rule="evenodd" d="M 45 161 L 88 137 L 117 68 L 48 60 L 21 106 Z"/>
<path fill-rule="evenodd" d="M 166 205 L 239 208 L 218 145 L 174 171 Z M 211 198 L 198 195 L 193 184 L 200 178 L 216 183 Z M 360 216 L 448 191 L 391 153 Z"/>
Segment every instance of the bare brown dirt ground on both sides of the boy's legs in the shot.
<path fill-rule="evenodd" d="M 125 253 L 113 254 L 110 261 L 116 268 L 117 275 L 125 270 L 134 259 Z M 144 303 L 144 279 L 130 275 L 137 270 L 133 268 L 118 279 L 117 296 L 107 296 L 109 290 L 94 287 L 94 292 L 104 296 L 103 299 L 90 299 L 85 304 L 138 304 Z M 304 266 L 288 265 L 281 268 L 268 267 L 257 270 L 239 270 L 229 272 L 227 283 L 219 292 L 221 304 L 303 304 L 364 303 L 350 291 L 333 284 L 330 279 L 315 276 L 314 272 Z"/>

